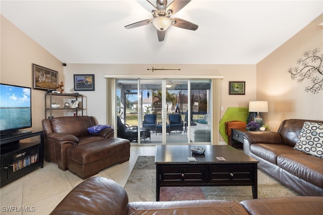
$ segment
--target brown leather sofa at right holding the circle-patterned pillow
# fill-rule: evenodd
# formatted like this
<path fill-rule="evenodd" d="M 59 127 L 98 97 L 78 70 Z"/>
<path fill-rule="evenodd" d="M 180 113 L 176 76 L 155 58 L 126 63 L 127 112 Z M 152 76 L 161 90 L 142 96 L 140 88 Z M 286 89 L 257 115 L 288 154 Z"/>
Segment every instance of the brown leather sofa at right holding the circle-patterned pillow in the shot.
<path fill-rule="evenodd" d="M 246 132 L 243 151 L 258 160 L 260 170 L 300 195 L 323 196 L 323 159 L 293 148 L 306 121 L 323 123 L 290 119 L 277 132 Z"/>

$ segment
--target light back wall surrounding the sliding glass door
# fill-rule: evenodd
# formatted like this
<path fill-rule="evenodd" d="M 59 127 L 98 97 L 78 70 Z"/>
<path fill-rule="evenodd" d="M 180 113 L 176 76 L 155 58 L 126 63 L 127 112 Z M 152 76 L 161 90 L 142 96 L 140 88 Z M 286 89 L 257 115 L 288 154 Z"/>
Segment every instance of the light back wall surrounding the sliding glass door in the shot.
<path fill-rule="evenodd" d="M 181 71 L 148 71 L 148 68 L 181 69 Z M 64 67 L 65 89 L 73 90 L 73 74 L 95 74 L 95 91 L 79 91 L 86 96 L 87 114 L 96 116 L 99 123 L 106 120 L 105 78 L 106 74 L 118 75 L 158 75 L 168 78 L 171 75 L 223 75 L 222 106 L 224 111 L 229 107 L 248 106 L 249 100 L 256 98 L 256 66 L 255 65 L 142 65 L 142 64 L 67 64 Z M 245 95 L 229 95 L 229 81 L 246 81 Z M 114 107 L 107 107 L 114 108 Z M 222 141 L 222 140 L 220 140 Z"/>

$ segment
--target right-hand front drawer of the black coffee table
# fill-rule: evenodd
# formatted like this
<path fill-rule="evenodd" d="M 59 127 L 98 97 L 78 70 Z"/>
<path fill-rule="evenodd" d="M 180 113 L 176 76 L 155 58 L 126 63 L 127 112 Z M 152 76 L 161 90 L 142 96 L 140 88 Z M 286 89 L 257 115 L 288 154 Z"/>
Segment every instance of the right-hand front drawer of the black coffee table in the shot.
<path fill-rule="evenodd" d="M 210 184 L 250 184 L 254 182 L 253 165 L 216 165 L 209 166 Z"/>

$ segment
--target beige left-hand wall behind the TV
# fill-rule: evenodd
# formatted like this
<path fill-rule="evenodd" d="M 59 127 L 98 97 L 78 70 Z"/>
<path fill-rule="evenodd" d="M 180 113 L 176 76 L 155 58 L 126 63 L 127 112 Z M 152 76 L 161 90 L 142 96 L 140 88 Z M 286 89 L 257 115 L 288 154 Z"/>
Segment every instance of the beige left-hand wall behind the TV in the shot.
<path fill-rule="evenodd" d="M 20 29 L 0 15 L 1 19 L 1 83 L 31 87 L 32 64 L 59 72 L 59 81 L 64 80 L 63 66 L 57 58 L 42 48 Z M 32 129 L 41 130 L 45 117 L 44 90 L 31 90 Z"/>

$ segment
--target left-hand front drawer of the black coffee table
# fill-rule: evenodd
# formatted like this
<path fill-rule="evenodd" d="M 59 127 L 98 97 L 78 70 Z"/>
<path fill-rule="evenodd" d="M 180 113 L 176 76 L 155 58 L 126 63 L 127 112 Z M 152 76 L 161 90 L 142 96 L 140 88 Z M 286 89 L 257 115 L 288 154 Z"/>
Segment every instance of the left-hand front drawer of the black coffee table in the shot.
<path fill-rule="evenodd" d="M 160 184 L 205 184 L 206 166 L 161 166 Z"/>

